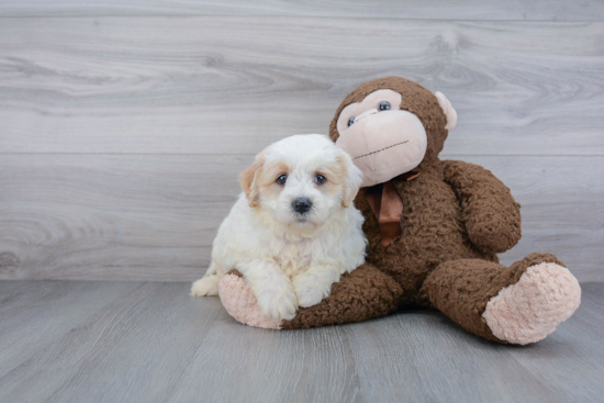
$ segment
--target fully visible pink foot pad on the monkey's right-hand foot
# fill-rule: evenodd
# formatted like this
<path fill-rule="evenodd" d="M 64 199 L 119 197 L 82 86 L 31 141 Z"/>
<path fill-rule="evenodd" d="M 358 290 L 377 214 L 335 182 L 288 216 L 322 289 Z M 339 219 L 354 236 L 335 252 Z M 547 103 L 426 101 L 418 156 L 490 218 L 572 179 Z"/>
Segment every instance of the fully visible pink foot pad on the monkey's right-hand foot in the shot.
<path fill-rule="evenodd" d="M 526 345 L 552 333 L 580 303 L 581 288 L 570 271 L 543 262 L 493 296 L 482 316 L 499 339 Z"/>

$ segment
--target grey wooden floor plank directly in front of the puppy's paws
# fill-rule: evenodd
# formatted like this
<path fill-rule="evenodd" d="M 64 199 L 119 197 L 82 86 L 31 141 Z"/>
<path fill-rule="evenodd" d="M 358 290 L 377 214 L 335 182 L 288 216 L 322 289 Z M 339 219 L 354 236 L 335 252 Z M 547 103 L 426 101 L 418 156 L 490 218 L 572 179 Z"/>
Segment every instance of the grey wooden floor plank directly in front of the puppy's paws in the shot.
<path fill-rule="evenodd" d="M 168 402 L 367 401 L 342 327 L 257 331 L 219 316 Z"/>

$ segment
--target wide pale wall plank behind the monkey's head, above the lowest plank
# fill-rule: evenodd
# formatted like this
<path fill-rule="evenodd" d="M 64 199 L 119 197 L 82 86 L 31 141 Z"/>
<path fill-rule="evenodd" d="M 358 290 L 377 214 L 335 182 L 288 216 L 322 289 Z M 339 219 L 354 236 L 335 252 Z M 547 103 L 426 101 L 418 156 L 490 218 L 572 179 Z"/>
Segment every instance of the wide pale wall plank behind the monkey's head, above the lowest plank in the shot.
<path fill-rule="evenodd" d="M 0 153 L 249 154 L 398 75 L 451 100 L 449 155 L 604 155 L 603 41 L 602 22 L 3 19 Z"/>

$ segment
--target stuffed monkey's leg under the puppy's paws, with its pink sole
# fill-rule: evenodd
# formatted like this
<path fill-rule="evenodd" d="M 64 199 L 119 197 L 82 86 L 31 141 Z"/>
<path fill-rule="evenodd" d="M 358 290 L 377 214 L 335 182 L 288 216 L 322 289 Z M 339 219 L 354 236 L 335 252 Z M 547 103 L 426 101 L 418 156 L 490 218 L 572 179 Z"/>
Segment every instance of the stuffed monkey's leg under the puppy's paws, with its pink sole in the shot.
<path fill-rule="evenodd" d="M 370 265 L 342 276 L 329 296 L 320 304 L 301 307 L 291 321 L 277 323 L 260 315 L 256 296 L 242 275 L 232 270 L 219 284 L 222 304 L 241 323 L 264 328 L 306 328 L 366 321 L 396 310 L 403 291 L 399 283 Z"/>

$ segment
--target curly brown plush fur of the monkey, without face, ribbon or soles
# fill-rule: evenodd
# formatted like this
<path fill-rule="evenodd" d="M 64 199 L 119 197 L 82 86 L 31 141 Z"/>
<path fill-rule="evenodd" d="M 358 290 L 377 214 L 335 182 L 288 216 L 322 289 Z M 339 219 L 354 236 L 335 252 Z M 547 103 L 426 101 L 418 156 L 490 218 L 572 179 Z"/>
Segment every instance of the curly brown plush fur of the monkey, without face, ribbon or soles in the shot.
<path fill-rule="evenodd" d="M 367 265 L 342 277 L 318 305 L 301 309 L 283 328 L 358 322 L 411 305 L 436 307 L 467 331 L 491 340 L 482 313 L 489 300 L 518 281 L 527 267 L 557 261 L 533 254 L 512 265 L 499 265 L 496 253 L 521 238 L 519 204 L 489 170 L 463 161 L 440 161 L 447 117 L 436 97 L 416 82 L 387 77 L 366 82 L 338 108 L 329 128 L 335 142 L 342 110 L 367 94 L 391 89 L 402 94 L 402 110 L 417 115 L 428 136 L 424 160 L 411 181 L 393 179 L 403 201 L 402 235 L 385 248 L 365 190 L 355 199 L 368 237 Z M 394 280 L 394 281 L 392 281 Z"/>

